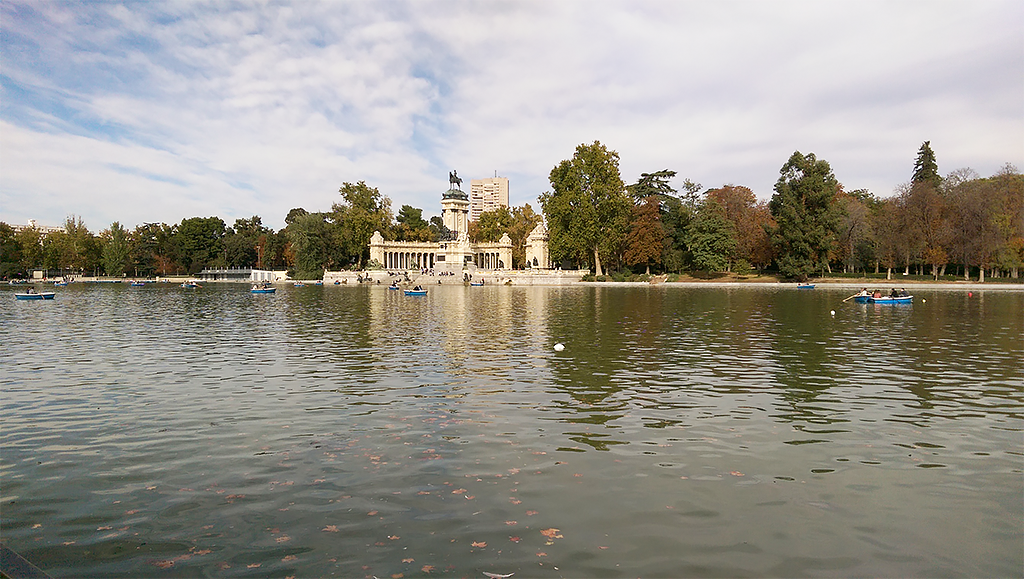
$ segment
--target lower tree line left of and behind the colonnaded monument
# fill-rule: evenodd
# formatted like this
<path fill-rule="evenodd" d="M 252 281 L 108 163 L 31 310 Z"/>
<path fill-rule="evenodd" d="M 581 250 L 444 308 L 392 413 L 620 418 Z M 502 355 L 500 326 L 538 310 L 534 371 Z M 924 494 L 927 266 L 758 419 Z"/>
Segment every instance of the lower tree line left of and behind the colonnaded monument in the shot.
<path fill-rule="evenodd" d="M 397 241 L 437 242 L 451 233 L 440 217 L 429 221 L 422 209 L 391 201 L 365 181 L 345 182 L 330 211 L 295 208 L 278 232 L 254 215 L 228 226 L 221 218 L 189 217 L 180 223 L 145 223 L 132 231 L 115 221 L 94 235 L 81 217 L 69 216 L 63 229 L 43 234 L 35 228 L 14 232 L 0 222 L 0 278 L 23 278 L 36 270 L 60 276 L 154 277 L 195 275 L 204 268 L 287 270 L 300 279 L 318 279 L 325 270 L 379 266 L 369 263 L 370 237 L 380 231 Z M 485 213 L 470 228 L 472 241 L 513 239 L 513 264 L 525 257 L 526 236 L 541 221 L 529 205 Z"/>

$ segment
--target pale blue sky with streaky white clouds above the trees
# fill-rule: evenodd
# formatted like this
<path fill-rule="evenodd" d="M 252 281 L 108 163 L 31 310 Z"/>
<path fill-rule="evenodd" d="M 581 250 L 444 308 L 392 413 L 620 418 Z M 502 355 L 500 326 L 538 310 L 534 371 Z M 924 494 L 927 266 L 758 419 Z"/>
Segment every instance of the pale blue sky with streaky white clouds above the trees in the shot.
<path fill-rule="evenodd" d="M 440 212 L 453 169 L 550 190 L 582 143 L 770 199 L 794 152 L 893 194 L 1024 169 L 1020 0 L 0 0 L 0 221 L 99 232 Z"/>

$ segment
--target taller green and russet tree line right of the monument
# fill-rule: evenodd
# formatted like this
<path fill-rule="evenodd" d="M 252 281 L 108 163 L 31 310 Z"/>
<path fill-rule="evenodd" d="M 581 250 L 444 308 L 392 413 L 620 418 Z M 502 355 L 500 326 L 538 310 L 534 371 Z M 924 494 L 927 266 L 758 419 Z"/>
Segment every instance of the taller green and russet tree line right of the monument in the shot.
<path fill-rule="evenodd" d="M 982 178 L 942 177 L 925 141 L 910 181 L 893 196 L 848 191 L 827 161 L 795 152 L 774 195 L 745 187 L 708 189 L 672 170 L 627 184 L 618 154 L 600 141 L 577 147 L 540 197 L 552 259 L 604 273 L 740 274 L 788 279 L 895 271 L 935 279 L 973 273 L 1017 278 L 1024 263 L 1024 176 L 1007 164 Z"/>

